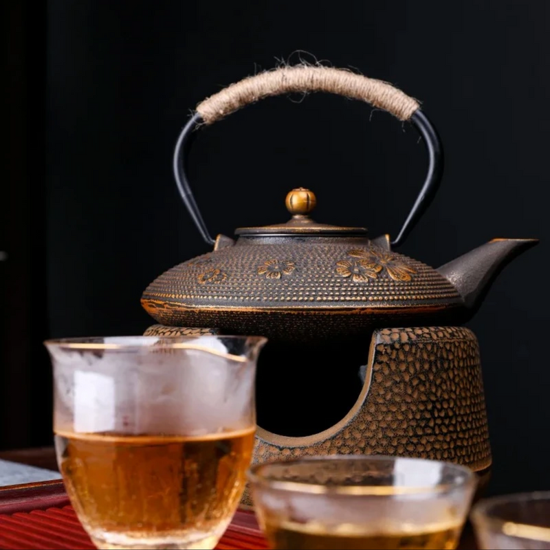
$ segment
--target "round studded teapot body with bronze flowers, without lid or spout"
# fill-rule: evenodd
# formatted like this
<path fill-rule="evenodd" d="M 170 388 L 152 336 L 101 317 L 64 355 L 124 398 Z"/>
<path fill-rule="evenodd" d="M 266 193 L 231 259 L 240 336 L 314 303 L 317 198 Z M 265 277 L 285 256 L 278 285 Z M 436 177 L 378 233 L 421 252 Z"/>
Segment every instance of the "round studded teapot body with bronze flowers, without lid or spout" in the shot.
<path fill-rule="evenodd" d="M 355 236 L 241 236 L 171 268 L 142 305 L 160 324 L 276 341 L 353 339 L 384 326 L 460 322 L 436 270 Z"/>

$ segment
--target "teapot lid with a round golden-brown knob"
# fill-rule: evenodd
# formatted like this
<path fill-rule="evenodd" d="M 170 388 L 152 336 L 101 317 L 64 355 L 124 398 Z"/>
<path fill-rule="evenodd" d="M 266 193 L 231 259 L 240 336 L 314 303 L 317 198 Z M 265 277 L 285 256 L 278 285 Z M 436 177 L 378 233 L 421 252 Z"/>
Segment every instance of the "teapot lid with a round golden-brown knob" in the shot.
<path fill-rule="evenodd" d="M 365 227 L 340 227 L 317 223 L 308 214 L 315 208 L 317 198 L 313 192 L 305 187 L 293 189 L 285 200 L 287 210 L 292 218 L 286 223 L 265 225 L 263 227 L 239 227 L 235 230 L 238 236 L 261 235 L 300 235 L 307 236 L 366 236 Z"/>

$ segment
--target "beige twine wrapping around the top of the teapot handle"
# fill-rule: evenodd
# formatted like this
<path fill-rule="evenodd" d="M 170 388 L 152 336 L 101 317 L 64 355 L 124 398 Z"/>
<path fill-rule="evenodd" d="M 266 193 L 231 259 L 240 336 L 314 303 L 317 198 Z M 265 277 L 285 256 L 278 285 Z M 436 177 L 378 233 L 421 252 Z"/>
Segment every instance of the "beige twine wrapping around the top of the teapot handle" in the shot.
<path fill-rule="evenodd" d="M 206 124 L 234 113 L 241 107 L 283 93 L 328 92 L 364 101 L 408 120 L 419 108 L 417 100 L 382 80 L 331 67 L 281 67 L 249 76 L 211 95 L 197 105 Z"/>

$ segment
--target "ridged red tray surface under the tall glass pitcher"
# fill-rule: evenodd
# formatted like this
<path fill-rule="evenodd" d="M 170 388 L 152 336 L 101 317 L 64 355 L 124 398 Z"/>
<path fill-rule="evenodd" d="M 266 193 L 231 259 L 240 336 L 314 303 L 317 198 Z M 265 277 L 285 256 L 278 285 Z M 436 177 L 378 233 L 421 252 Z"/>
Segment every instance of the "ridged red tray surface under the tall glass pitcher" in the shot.
<path fill-rule="evenodd" d="M 0 489 L 0 549 L 93 550 L 61 481 Z M 267 549 L 252 512 L 239 510 L 218 550 Z"/>

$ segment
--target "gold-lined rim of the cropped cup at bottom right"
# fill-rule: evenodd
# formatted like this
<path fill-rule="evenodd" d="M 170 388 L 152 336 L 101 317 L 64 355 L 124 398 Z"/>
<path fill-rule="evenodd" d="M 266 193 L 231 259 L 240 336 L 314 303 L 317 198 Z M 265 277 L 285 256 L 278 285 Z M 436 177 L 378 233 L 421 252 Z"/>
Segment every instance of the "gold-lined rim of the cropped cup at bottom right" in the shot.
<path fill-rule="evenodd" d="M 505 496 L 493 496 L 485 499 L 472 509 L 472 520 L 481 525 L 487 523 L 501 533 L 518 538 L 527 538 L 542 542 L 550 542 L 550 526 L 530 525 L 529 523 L 518 523 L 492 515 L 492 508 L 503 504 L 529 503 L 532 501 L 548 501 L 550 505 L 550 491 L 518 493 Z"/>

